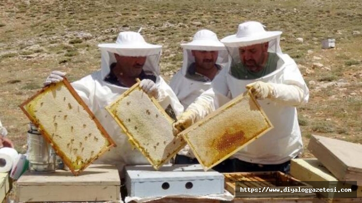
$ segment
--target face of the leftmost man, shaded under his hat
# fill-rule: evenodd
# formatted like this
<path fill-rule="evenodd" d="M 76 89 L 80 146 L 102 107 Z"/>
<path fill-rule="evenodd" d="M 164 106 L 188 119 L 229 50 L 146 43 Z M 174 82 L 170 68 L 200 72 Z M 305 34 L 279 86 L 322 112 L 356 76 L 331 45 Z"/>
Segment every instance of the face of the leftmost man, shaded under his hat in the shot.
<path fill-rule="evenodd" d="M 122 74 L 126 77 L 137 77 L 145 65 L 146 56 L 120 56 L 115 54 L 117 63 L 120 64 Z"/>

